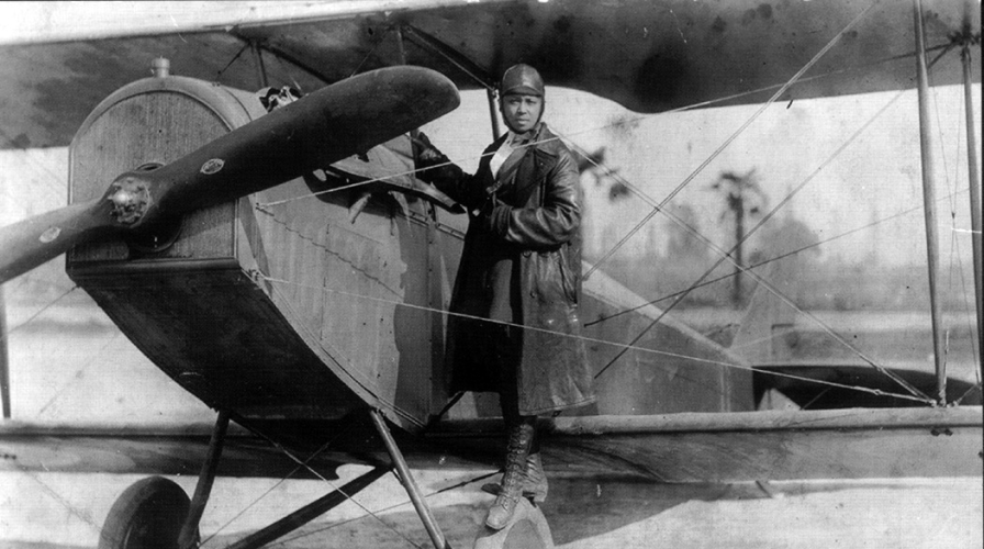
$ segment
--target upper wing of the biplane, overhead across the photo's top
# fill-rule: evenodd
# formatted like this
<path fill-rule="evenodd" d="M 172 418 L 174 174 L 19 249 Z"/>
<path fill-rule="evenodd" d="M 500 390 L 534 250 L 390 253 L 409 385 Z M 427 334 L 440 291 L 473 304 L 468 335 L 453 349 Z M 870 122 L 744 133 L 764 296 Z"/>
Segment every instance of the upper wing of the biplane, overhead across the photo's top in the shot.
<path fill-rule="evenodd" d="M 848 29 L 783 100 L 915 85 L 909 2 L 19 4 L 0 5 L 0 21 L 7 22 L 0 27 L 3 148 L 66 145 L 102 98 L 146 76 L 158 56 L 169 58 L 176 74 L 241 89 L 262 86 L 257 69 L 262 63 L 270 83 L 305 91 L 404 63 L 435 68 L 459 87 L 473 88 L 524 61 L 551 85 L 660 112 L 708 101 L 763 101 Z M 928 47 L 947 46 L 963 29 L 977 33 L 980 44 L 977 1 L 924 4 Z M 251 44 L 262 52 L 259 60 Z M 958 64 L 957 56 L 947 56 L 933 83 L 959 81 Z M 972 66 L 980 80 L 980 63 Z"/>

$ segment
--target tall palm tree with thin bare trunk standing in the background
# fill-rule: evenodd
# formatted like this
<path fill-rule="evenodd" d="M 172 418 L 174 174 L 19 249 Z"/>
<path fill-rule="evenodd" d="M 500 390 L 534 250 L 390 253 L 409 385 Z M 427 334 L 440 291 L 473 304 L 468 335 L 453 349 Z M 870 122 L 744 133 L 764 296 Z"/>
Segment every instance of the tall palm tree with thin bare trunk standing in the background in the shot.
<path fill-rule="evenodd" d="M 742 303 L 741 270 L 745 267 L 742 256 L 742 239 L 745 238 L 745 216 L 757 216 L 769 202 L 768 197 L 759 186 L 756 169 L 745 173 L 735 171 L 722 171 L 717 181 L 711 184 L 711 189 L 724 194 L 726 209 L 720 215 L 735 217 L 735 278 L 731 287 L 731 303 L 737 309 Z"/>

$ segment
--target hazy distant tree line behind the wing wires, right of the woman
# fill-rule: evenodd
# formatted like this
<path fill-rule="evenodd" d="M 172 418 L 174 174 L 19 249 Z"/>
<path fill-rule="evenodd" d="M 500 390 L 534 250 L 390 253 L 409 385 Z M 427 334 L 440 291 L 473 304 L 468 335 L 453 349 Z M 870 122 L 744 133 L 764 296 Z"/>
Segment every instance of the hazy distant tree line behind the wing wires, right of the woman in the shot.
<path fill-rule="evenodd" d="M 603 157 L 602 153 L 597 156 Z M 622 199 L 623 187 L 614 181 L 610 200 Z M 768 220 L 746 238 L 769 204 L 769 197 L 759 184 L 754 169 L 724 171 L 708 189 L 723 199 L 717 219 L 702 219 L 686 202 L 671 204 L 670 213 L 675 221 L 662 216 L 658 226 L 663 246 L 652 246 L 650 251 L 634 256 L 616 254 L 605 261 L 603 270 L 636 293 L 656 301 L 658 306 L 667 306 L 686 292 L 678 306 L 741 309 L 754 292 L 757 282 L 752 276 L 739 274 L 735 264 L 767 277 L 774 276 L 770 274 L 770 264 L 782 261 L 781 272 L 785 279 L 772 282 L 781 285 L 786 298 L 802 309 L 928 311 L 925 265 L 884 265 L 871 257 L 846 260 L 830 254 L 825 257 L 817 233 L 789 211 Z M 712 250 L 695 233 L 706 234 L 705 231 L 714 224 L 716 232 L 731 235 L 720 248 L 731 249 L 734 261 L 720 262 L 704 277 L 718 262 L 720 254 Z M 742 239 L 746 242 L 735 246 Z M 586 250 L 585 257 L 590 261 L 597 259 L 592 257 L 592 250 Z M 966 266 L 964 271 L 957 273 L 957 278 L 972 280 Z M 693 288 L 702 277 L 704 282 Z M 943 292 L 943 307 L 963 311 L 966 299 L 962 287 L 955 284 Z"/>

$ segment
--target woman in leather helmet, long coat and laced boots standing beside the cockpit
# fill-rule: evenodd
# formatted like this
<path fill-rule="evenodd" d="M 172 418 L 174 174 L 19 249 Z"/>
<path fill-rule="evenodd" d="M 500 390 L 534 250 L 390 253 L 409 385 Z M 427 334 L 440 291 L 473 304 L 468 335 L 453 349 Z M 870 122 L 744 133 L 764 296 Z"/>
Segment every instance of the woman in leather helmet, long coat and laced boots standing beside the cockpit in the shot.
<path fill-rule="evenodd" d="M 581 191 L 570 150 L 541 121 L 539 72 L 515 65 L 502 77 L 510 131 L 485 149 L 474 176 L 426 136 L 420 173 L 461 203 L 470 223 L 448 318 L 452 391 L 497 392 L 508 442 L 505 473 L 487 526 L 502 529 L 521 497 L 543 502 L 547 479 L 536 416 L 594 402 L 578 337 Z"/>

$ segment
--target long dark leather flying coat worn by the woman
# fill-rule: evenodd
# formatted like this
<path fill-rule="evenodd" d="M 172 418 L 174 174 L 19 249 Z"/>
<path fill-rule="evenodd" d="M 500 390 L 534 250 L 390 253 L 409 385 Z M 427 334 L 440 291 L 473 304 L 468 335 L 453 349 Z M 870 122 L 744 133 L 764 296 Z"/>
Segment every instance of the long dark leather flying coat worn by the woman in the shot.
<path fill-rule="evenodd" d="M 481 324 L 488 322 L 490 277 L 494 258 L 514 259 L 507 284 L 518 291 L 516 316 L 522 343 L 516 383 L 519 413 L 536 415 L 594 402 L 578 314 L 581 291 L 581 190 L 570 150 L 540 123 L 536 137 L 492 176 L 490 159 L 508 136 L 485 149 L 478 173 L 457 166 L 421 175 L 463 204 L 471 216 L 451 295 L 447 357 L 452 391 L 499 391 L 502 367 L 492 358 L 499 349 Z M 447 159 L 437 155 L 439 165 Z M 426 167 L 426 166 L 424 166 Z M 493 258 L 493 260 L 490 260 Z M 517 265 L 517 267 L 516 267 Z"/>

